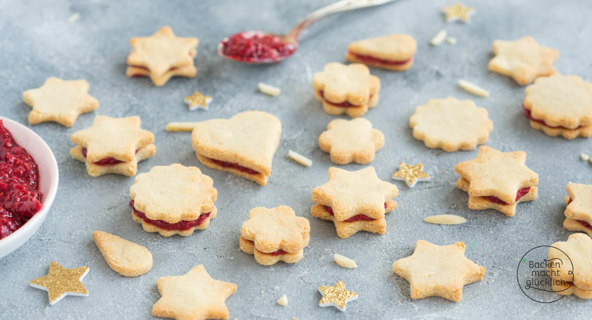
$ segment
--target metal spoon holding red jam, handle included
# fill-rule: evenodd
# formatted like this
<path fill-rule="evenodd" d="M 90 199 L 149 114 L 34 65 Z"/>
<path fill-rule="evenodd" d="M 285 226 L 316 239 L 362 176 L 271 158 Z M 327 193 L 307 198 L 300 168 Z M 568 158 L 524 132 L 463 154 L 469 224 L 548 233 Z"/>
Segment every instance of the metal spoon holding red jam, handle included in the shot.
<path fill-rule="evenodd" d="M 285 35 L 265 31 L 243 31 L 224 38 L 218 44 L 218 54 L 226 59 L 246 63 L 277 63 L 298 49 L 300 33 L 316 22 L 337 12 L 374 7 L 395 0 L 341 0 L 317 9 Z M 234 51 L 233 51 L 234 50 Z M 244 55 L 242 53 L 244 51 Z"/>

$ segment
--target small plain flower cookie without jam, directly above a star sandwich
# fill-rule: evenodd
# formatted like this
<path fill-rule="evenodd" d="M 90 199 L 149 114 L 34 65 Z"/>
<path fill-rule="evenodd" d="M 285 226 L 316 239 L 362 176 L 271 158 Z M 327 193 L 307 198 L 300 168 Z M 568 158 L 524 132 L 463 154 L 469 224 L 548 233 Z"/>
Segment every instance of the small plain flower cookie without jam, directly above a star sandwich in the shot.
<path fill-rule="evenodd" d="M 373 129 L 372 122 L 366 118 L 334 119 L 327 125 L 327 131 L 318 136 L 318 146 L 330 153 L 333 163 L 366 164 L 384 146 L 384 134 Z"/>

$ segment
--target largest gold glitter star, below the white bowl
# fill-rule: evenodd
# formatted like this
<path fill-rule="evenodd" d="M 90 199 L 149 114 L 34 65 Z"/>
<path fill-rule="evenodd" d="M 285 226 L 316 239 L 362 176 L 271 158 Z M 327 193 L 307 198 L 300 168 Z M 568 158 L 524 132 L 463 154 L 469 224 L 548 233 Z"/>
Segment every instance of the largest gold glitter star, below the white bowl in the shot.
<path fill-rule="evenodd" d="M 46 290 L 49 295 L 50 305 L 54 305 L 67 295 L 88 297 L 88 290 L 81 283 L 88 270 L 87 266 L 66 269 L 56 261 L 52 261 L 47 275 L 31 280 L 29 285 Z"/>

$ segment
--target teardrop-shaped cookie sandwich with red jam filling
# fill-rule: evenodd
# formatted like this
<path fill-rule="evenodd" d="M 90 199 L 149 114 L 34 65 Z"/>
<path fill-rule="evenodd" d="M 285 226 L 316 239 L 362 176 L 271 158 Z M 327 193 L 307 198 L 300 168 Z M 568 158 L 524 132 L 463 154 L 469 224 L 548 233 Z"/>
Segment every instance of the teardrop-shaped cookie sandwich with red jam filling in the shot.
<path fill-rule="evenodd" d="M 413 66 L 416 51 L 417 43 L 410 35 L 390 34 L 350 43 L 345 58 L 349 62 L 404 71 Z"/>

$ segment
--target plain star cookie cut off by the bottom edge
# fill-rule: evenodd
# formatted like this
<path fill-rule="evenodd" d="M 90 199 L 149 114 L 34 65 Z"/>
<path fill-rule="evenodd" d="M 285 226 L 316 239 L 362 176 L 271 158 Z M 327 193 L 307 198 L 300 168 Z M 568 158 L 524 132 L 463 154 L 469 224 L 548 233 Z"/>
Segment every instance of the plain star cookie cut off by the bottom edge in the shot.
<path fill-rule="evenodd" d="M 152 315 L 176 320 L 228 319 L 226 299 L 235 291 L 234 283 L 212 279 L 200 264 L 183 276 L 156 280 L 160 299 Z"/>

